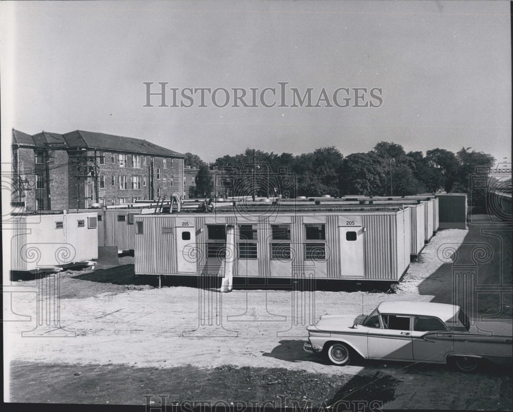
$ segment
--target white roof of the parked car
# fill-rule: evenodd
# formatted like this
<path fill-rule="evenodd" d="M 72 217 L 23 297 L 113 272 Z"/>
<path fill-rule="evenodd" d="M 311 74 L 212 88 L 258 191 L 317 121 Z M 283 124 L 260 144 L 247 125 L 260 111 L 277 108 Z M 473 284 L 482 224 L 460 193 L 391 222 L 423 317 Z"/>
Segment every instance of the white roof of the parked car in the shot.
<path fill-rule="evenodd" d="M 460 310 L 457 305 L 432 302 L 389 301 L 378 305 L 380 313 L 396 313 L 397 315 L 435 316 L 443 321 L 453 318 Z"/>

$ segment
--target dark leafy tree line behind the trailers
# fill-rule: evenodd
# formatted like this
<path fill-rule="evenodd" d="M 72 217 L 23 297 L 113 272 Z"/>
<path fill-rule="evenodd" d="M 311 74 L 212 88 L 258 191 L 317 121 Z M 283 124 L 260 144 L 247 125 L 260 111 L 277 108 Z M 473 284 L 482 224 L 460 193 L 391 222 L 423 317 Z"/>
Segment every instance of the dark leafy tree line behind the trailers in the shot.
<path fill-rule="evenodd" d="M 422 151 L 406 153 L 403 146 L 393 142 L 379 142 L 368 152 L 347 156 L 334 146 L 300 155 L 246 149 L 218 158 L 210 166 L 226 171 L 232 189 L 241 191 L 233 195 L 256 191 L 265 196 L 274 189 L 283 194 L 284 183 L 295 186 L 293 195 L 307 197 L 404 196 L 439 190 L 467 193 L 469 176 L 476 167 L 495 163 L 492 155 L 470 149 L 463 147 L 453 153 L 437 148 L 424 155 Z M 198 194 L 208 195 L 209 165 L 192 153 L 186 153 L 185 165 L 200 168 L 202 179 L 199 174 L 196 189 Z"/>

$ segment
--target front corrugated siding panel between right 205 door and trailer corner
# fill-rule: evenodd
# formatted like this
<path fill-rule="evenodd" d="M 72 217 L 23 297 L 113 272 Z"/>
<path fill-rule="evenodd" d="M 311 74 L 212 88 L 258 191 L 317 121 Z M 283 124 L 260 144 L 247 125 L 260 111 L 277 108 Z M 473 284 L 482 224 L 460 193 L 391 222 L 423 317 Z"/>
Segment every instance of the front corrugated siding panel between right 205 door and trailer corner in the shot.
<path fill-rule="evenodd" d="M 365 279 L 397 280 L 395 215 L 362 215 Z"/>

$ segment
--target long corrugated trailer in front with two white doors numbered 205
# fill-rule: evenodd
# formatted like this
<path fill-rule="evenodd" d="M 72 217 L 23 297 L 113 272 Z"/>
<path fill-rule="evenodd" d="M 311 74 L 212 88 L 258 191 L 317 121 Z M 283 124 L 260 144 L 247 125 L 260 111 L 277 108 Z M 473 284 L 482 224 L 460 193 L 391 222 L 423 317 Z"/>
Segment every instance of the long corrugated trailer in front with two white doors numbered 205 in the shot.
<path fill-rule="evenodd" d="M 135 273 L 233 279 L 399 281 L 410 262 L 410 209 L 358 208 L 272 215 L 216 213 L 135 215 Z M 227 249 L 227 226 L 235 229 Z"/>

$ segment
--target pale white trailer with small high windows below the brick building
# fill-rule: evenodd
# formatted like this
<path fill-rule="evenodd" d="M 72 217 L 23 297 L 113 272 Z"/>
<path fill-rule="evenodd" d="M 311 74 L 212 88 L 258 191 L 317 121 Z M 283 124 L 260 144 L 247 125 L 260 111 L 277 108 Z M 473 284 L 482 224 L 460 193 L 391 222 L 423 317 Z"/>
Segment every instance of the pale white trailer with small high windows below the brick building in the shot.
<path fill-rule="evenodd" d="M 98 258 L 96 213 L 12 217 L 11 270 L 37 271 Z"/>

